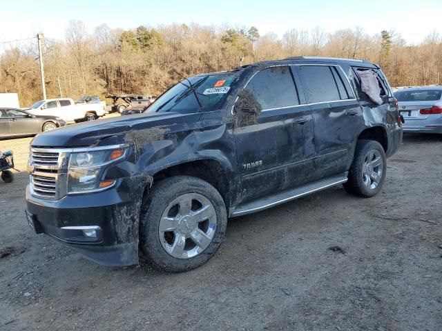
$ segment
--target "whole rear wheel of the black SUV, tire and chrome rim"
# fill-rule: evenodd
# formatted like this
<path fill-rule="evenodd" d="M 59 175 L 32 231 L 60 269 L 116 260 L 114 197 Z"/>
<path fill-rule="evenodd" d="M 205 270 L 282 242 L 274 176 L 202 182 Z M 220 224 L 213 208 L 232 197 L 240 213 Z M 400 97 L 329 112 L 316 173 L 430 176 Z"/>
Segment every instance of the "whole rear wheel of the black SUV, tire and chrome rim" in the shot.
<path fill-rule="evenodd" d="M 381 190 L 387 173 L 387 158 L 380 143 L 359 140 L 354 159 L 344 183 L 347 192 L 361 197 L 373 197 Z"/>

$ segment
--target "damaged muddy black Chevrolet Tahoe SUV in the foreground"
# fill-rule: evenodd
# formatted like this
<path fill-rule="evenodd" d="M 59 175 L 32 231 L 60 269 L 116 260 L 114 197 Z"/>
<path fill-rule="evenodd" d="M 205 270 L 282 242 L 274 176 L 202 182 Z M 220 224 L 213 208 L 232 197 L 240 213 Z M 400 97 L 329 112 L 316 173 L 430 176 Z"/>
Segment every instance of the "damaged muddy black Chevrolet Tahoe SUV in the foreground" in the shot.
<path fill-rule="evenodd" d="M 367 88 L 378 91 L 377 103 Z M 378 66 L 255 63 L 183 79 L 142 114 L 39 134 L 26 216 L 35 232 L 97 263 L 133 265 L 142 256 L 189 270 L 216 252 L 229 217 L 338 184 L 372 197 L 401 140 Z"/>

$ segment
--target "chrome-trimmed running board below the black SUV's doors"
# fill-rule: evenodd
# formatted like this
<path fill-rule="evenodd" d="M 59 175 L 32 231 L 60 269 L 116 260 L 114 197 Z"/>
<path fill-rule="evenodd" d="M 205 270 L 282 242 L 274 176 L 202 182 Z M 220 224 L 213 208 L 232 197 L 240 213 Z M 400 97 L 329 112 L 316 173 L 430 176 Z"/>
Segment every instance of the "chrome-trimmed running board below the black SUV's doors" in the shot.
<path fill-rule="evenodd" d="M 244 203 L 244 205 L 238 205 L 236 208 L 230 210 L 230 217 L 238 217 L 251 214 L 252 212 L 260 212 L 261 210 L 271 208 L 275 205 L 280 205 L 281 203 L 304 197 L 307 194 L 325 190 L 326 188 L 331 188 L 334 185 L 345 183 L 347 181 L 347 176 L 348 172 L 344 172 L 343 174 L 321 179 L 320 181 L 314 181 L 301 185 L 292 190 L 273 194 L 270 197 Z"/>

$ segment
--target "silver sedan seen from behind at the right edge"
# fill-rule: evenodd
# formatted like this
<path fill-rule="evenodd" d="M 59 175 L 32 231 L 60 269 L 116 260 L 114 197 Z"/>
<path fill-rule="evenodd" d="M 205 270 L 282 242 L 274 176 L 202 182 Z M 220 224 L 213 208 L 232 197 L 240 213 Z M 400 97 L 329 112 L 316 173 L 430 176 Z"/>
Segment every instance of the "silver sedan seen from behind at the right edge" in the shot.
<path fill-rule="evenodd" d="M 442 86 L 401 88 L 394 92 L 403 132 L 442 134 Z"/>

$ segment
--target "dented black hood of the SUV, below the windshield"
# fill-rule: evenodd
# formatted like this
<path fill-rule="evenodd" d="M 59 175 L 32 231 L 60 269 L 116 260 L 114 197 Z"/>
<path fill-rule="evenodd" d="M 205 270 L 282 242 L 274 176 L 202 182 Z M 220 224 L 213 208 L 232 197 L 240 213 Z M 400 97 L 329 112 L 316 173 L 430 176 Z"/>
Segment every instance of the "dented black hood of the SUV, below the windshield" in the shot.
<path fill-rule="evenodd" d="M 180 128 L 182 124 L 195 122 L 201 114 L 178 114 L 176 112 L 157 112 L 135 114 L 79 123 L 50 132 L 38 134 L 32 146 L 39 147 L 87 147 L 115 145 L 125 142 L 126 134 L 150 128 Z"/>

